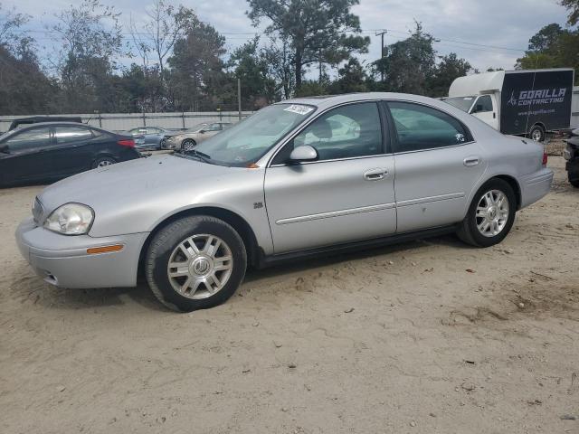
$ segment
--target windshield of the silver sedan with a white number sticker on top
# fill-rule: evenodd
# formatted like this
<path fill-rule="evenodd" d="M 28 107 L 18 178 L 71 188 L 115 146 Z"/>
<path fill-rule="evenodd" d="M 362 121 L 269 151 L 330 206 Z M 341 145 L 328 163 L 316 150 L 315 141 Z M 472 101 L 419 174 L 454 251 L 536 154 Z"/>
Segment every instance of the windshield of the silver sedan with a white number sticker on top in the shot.
<path fill-rule="evenodd" d="M 264 156 L 280 138 L 313 112 L 311 106 L 275 104 L 208 138 L 195 147 L 217 165 L 248 166 Z"/>

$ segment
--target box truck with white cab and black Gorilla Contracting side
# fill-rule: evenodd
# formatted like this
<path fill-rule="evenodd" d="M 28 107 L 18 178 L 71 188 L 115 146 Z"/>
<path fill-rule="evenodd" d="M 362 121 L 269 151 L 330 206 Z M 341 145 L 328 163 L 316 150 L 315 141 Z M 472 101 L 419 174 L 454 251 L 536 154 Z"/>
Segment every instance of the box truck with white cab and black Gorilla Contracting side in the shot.
<path fill-rule="evenodd" d="M 572 69 L 485 72 L 454 80 L 445 101 L 503 134 L 543 141 L 569 129 L 573 83 Z"/>

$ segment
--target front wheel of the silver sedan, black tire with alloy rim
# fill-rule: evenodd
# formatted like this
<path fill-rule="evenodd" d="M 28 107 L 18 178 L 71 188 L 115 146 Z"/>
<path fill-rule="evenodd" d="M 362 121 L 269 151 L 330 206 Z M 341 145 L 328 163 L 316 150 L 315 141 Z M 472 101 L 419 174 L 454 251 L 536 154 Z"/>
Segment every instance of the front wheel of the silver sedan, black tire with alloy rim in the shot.
<path fill-rule="evenodd" d="M 166 307 L 191 312 L 233 296 L 247 253 L 232 226 L 210 216 L 185 217 L 158 231 L 149 245 L 145 275 Z"/>

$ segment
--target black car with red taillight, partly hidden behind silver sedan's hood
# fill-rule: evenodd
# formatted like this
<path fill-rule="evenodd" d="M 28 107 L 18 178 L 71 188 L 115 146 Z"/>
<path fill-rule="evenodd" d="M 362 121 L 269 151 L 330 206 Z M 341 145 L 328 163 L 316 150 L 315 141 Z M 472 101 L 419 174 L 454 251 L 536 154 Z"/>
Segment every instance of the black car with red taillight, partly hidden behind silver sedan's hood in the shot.
<path fill-rule="evenodd" d="M 53 182 L 138 157 L 133 137 L 71 122 L 34 124 L 0 136 L 0 186 Z"/>

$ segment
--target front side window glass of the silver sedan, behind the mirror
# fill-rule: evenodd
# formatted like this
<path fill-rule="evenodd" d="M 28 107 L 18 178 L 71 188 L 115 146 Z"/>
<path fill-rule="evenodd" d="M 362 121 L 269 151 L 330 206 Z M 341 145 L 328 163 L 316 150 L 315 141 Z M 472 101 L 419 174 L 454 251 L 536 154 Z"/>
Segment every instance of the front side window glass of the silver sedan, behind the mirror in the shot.
<path fill-rule="evenodd" d="M 377 105 L 363 102 L 328 111 L 285 146 L 273 164 L 287 162 L 294 148 L 306 145 L 318 151 L 318 161 L 382 154 L 382 126 Z"/>

